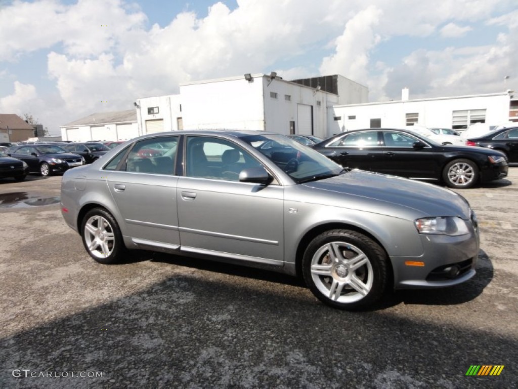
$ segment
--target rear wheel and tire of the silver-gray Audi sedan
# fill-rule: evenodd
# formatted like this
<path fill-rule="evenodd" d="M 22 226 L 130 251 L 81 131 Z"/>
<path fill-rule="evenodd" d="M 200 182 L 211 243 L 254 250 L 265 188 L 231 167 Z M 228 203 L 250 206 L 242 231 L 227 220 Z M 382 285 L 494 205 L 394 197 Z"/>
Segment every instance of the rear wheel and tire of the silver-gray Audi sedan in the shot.
<path fill-rule="evenodd" d="M 99 263 L 112 265 L 122 261 L 126 247 L 113 216 L 103 208 L 94 208 L 81 221 L 81 238 L 88 254 Z"/>

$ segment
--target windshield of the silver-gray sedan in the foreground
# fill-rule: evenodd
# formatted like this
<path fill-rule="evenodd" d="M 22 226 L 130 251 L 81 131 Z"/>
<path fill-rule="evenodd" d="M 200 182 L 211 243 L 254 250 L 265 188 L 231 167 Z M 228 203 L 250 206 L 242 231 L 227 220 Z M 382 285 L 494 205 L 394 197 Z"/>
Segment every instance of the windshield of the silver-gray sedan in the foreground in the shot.
<path fill-rule="evenodd" d="M 298 184 L 336 176 L 343 171 L 342 166 L 320 152 L 283 135 L 249 135 L 241 140 L 274 162 Z"/>

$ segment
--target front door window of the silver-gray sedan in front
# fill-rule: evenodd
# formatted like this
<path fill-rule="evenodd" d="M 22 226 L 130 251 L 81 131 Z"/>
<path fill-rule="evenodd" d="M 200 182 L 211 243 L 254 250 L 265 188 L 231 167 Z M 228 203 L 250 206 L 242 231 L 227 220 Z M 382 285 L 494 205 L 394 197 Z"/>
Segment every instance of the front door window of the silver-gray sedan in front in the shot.
<path fill-rule="evenodd" d="M 189 136 L 185 150 L 185 175 L 238 181 L 239 172 L 261 166 L 238 145 L 209 136 Z"/>

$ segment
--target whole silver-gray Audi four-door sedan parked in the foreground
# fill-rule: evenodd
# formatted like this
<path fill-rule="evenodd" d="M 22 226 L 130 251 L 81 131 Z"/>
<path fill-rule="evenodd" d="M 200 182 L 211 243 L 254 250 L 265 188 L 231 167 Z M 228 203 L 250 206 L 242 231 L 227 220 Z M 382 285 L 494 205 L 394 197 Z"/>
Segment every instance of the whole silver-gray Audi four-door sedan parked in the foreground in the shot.
<path fill-rule="evenodd" d="M 262 148 L 268 142 L 281 153 Z M 139 156 L 156 145 L 162 156 Z M 303 277 L 343 309 L 371 305 L 391 287 L 465 282 L 479 252 L 477 218 L 461 195 L 345 170 L 263 131 L 140 136 L 66 172 L 61 207 L 100 263 L 140 248 L 265 267 Z"/>

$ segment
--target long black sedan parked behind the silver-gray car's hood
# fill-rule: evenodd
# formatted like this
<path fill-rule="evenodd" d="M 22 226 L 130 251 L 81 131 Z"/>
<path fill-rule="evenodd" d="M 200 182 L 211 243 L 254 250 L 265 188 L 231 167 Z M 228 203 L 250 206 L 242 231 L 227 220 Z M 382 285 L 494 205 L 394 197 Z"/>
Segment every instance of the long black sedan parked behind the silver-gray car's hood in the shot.
<path fill-rule="evenodd" d="M 313 148 L 344 167 L 444 182 L 451 188 L 507 176 L 505 154 L 469 146 L 442 146 L 409 131 L 366 129 L 335 135 Z"/>

